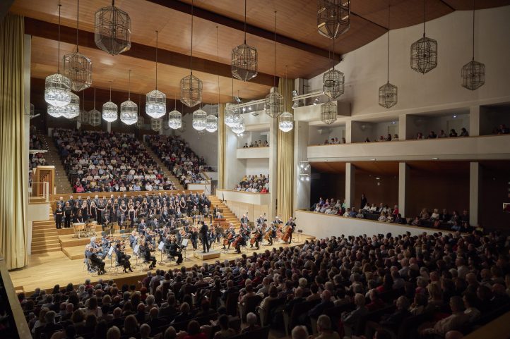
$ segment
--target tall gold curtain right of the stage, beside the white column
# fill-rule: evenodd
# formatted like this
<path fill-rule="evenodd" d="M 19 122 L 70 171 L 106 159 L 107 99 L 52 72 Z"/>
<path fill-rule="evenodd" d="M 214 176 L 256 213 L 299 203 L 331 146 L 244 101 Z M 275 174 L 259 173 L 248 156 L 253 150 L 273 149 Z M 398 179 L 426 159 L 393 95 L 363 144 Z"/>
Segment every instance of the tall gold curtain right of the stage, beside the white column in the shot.
<path fill-rule="evenodd" d="M 294 80 L 280 78 L 278 91 L 283 95 L 284 111 L 292 113 Z M 294 130 L 282 132 L 278 128 L 278 215 L 285 221 L 292 216 L 294 207 Z"/>

